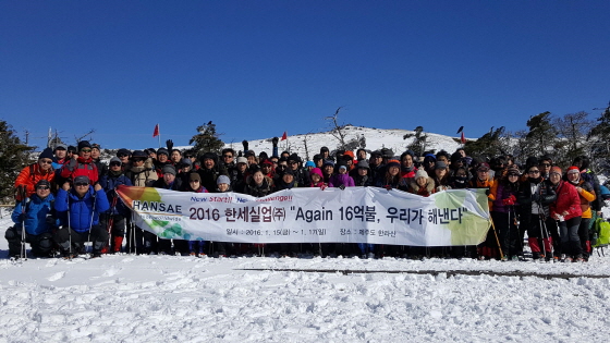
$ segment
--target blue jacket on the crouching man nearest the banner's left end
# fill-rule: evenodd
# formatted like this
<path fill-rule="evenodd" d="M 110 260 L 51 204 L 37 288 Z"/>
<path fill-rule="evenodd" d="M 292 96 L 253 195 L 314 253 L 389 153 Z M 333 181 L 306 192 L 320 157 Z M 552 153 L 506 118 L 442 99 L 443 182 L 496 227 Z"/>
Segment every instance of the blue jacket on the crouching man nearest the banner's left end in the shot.
<path fill-rule="evenodd" d="M 108 204 L 108 197 L 103 189 L 95 192 L 94 187 L 89 186 L 89 191 L 85 193 L 85 196 L 80 198 L 74 188 L 70 189 L 70 192 L 60 188 L 56 197 L 56 211 L 62 225 L 69 224 L 69 207 L 70 228 L 82 233 L 89 231 L 91 218 L 93 225 L 99 223 L 99 213 L 106 212 L 110 208 L 110 204 Z"/>

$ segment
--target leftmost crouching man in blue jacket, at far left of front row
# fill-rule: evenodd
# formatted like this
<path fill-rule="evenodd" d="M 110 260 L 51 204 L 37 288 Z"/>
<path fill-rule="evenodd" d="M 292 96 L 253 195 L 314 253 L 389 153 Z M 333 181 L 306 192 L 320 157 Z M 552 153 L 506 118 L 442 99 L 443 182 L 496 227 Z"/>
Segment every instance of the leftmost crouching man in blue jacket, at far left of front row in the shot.
<path fill-rule="evenodd" d="M 36 257 L 50 257 L 52 231 L 57 228 L 57 220 L 51 217 L 53 210 L 51 184 L 47 180 L 36 183 L 36 193 L 27 203 L 17 203 L 13 210 L 14 226 L 7 229 L 4 237 L 9 242 L 9 256 L 21 256 L 22 230 L 25 228 L 25 242 L 32 246 L 32 254 Z"/>

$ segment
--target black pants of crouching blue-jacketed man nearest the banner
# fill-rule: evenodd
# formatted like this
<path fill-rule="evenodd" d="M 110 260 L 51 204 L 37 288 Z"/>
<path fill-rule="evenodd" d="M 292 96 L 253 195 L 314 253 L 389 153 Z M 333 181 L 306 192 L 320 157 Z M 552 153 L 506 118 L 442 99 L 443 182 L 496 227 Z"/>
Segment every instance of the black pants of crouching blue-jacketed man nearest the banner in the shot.
<path fill-rule="evenodd" d="M 93 225 L 90 234 L 88 231 L 76 232 L 68 226 L 64 226 L 54 234 L 54 241 L 59 245 L 62 254 L 69 253 L 81 254 L 85 253 L 85 243 L 93 242 L 94 254 L 100 253 L 108 243 L 108 232 L 100 225 Z M 72 246 L 70 243 L 72 241 Z"/>

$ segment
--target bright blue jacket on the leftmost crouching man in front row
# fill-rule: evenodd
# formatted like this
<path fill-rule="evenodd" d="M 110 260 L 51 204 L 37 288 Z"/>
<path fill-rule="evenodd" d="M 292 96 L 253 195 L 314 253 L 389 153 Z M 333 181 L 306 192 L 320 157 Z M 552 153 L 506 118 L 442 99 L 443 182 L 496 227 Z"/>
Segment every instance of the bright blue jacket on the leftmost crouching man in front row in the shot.
<path fill-rule="evenodd" d="M 34 194 L 29 197 L 29 201 L 25 206 L 27 212 L 25 213 L 25 232 L 30 235 L 39 235 L 46 232 L 52 232 L 53 228 L 58 226 L 58 221 L 47 216 L 52 210 L 52 201 L 56 198 L 52 194 L 41 199 L 38 195 Z M 23 213 L 22 203 L 19 203 L 11 218 L 17 225 L 22 224 L 21 213 Z"/>

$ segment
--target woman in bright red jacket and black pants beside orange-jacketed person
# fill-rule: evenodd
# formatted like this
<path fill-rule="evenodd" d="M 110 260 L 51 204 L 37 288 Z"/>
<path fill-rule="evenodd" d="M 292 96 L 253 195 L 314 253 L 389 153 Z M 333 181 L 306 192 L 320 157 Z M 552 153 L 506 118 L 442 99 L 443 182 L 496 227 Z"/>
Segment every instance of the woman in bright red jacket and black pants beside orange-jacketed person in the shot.
<path fill-rule="evenodd" d="M 581 224 L 581 198 L 576 187 L 561 180 L 561 168 L 553 167 L 549 173 L 549 182 L 557 194 L 557 200 L 549 207 L 551 217 L 557 221 L 561 236 L 561 260 L 584 261 L 583 247 L 578 238 Z"/>

